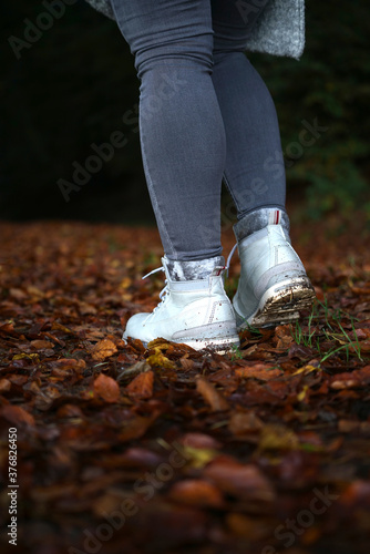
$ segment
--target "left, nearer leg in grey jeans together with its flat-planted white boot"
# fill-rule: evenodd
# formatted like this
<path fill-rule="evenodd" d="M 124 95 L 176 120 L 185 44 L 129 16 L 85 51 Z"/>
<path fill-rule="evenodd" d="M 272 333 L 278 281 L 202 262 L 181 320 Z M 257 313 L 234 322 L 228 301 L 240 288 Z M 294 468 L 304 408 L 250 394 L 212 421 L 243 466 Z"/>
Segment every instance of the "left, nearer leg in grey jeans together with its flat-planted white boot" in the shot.
<path fill-rule="evenodd" d="M 224 289 L 220 185 L 225 130 L 212 82 L 209 0 L 112 0 L 141 80 L 143 163 L 165 256 L 166 287 L 124 340 L 162 337 L 196 349 L 239 343 Z M 207 240 L 204 220 L 213 220 Z"/>

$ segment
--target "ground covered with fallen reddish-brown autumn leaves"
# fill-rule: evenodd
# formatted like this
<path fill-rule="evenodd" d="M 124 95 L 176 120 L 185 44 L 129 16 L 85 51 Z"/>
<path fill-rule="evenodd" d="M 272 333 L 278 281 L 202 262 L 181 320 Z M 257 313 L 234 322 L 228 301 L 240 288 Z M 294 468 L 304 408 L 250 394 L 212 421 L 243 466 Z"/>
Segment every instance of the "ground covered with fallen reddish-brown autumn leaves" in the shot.
<path fill-rule="evenodd" d="M 369 235 L 338 229 L 294 229 L 315 310 L 219 356 L 121 340 L 155 230 L 1 224 L 1 552 L 368 552 Z"/>

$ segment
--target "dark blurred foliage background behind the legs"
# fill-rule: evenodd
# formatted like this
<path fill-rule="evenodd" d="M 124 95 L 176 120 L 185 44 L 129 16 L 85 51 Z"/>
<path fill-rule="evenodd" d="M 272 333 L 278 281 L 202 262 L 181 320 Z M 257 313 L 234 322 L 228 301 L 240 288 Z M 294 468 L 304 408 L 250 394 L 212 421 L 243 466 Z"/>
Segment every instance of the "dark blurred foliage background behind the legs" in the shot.
<path fill-rule="evenodd" d="M 138 81 L 115 23 L 83 0 L 17 60 L 9 37 L 24 39 L 41 0 L 2 3 L 0 217 L 153 222 L 135 110 Z M 307 45 L 299 62 L 250 54 L 275 99 L 287 164 L 288 197 L 301 215 L 340 212 L 370 220 L 369 7 L 366 0 L 307 0 Z M 326 130 L 309 146 L 307 122 Z M 306 122 L 306 123 L 305 123 Z M 65 202 L 58 181 L 72 181 L 91 145 L 121 131 L 126 144 Z"/>

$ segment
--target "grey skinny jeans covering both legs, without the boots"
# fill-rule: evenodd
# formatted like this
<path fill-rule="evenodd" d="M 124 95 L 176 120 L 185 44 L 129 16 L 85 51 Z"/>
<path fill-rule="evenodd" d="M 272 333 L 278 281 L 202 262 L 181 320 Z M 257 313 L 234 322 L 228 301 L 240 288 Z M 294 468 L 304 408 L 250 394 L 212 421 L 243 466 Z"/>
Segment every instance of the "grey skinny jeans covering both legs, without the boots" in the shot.
<path fill-rule="evenodd" d="M 218 256 L 223 179 L 238 219 L 285 206 L 275 105 L 245 55 L 266 1 L 250 1 L 248 17 L 234 0 L 111 2 L 141 81 L 142 157 L 164 252 Z"/>

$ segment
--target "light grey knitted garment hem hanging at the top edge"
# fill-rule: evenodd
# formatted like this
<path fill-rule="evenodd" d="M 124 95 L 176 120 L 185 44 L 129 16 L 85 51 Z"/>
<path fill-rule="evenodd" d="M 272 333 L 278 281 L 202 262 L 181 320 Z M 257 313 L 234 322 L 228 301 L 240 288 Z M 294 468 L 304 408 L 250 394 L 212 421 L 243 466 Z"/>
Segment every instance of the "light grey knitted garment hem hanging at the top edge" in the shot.
<path fill-rule="evenodd" d="M 86 0 L 93 8 L 115 19 L 110 0 Z M 240 16 L 247 1 L 238 2 Z M 305 0 L 269 0 L 246 42 L 246 51 L 288 55 L 297 60 L 305 48 Z"/>

